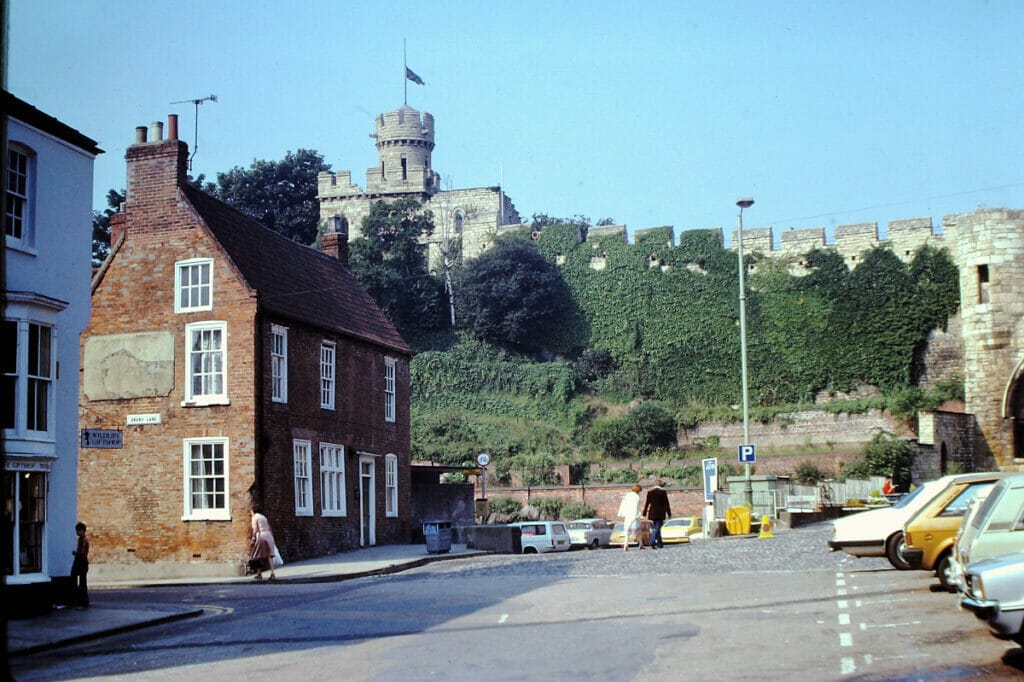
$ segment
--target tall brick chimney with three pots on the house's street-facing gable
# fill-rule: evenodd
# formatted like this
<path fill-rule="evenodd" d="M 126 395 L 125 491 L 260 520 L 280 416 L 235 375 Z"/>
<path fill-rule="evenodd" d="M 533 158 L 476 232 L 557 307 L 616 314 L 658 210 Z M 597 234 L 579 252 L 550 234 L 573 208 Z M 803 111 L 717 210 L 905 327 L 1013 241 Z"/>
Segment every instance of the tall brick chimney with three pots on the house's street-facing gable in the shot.
<path fill-rule="evenodd" d="M 177 202 L 178 187 L 185 185 L 188 169 L 188 145 L 178 139 L 178 117 L 168 116 L 167 139 L 164 124 L 135 128 L 135 143 L 125 153 L 128 183 L 125 204 L 129 213 L 142 207 L 167 206 Z"/>

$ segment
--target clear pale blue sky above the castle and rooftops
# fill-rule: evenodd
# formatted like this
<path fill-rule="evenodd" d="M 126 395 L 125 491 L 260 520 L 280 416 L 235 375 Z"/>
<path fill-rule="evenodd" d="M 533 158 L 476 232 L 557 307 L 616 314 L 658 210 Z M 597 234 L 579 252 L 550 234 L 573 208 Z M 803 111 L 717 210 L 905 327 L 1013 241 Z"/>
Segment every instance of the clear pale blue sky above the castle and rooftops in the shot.
<path fill-rule="evenodd" d="M 138 125 L 212 179 L 319 152 L 366 186 L 374 116 L 433 114 L 452 187 L 630 230 L 829 228 L 1024 209 L 1024 3 L 8 0 L 8 89 L 93 137 L 95 208 Z M 830 231 L 829 231 L 830 235 Z"/>

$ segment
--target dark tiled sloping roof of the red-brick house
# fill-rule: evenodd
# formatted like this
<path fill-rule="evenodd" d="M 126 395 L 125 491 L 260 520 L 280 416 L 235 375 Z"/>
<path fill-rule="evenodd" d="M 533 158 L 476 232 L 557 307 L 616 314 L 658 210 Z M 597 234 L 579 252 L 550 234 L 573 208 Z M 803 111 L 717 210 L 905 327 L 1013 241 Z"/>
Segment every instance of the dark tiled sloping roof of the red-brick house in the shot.
<path fill-rule="evenodd" d="M 194 187 L 184 193 L 262 309 L 411 353 L 394 325 L 338 259 L 264 227 Z"/>

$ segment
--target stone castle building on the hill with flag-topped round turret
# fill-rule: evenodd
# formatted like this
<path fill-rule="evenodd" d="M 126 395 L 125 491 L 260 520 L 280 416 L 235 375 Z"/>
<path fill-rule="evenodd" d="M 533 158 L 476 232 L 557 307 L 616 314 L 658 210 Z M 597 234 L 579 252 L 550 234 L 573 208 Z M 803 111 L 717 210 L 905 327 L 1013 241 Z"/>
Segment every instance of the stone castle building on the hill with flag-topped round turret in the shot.
<path fill-rule="evenodd" d="M 361 233 L 362 218 L 377 202 L 415 199 L 434 214 L 434 235 L 427 240 L 430 262 L 441 252 L 453 258 L 474 257 L 507 226 L 519 226 L 519 214 L 500 186 L 452 189 L 442 187 L 430 163 L 434 148 L 434 117 L 408 104 L 376 119 L 378 164 L 367 170 L 366 189 L 352 183 L 351 171 L 322 172 L 317 198 L 321 222 L 337 224 L 352 239 Z"/>

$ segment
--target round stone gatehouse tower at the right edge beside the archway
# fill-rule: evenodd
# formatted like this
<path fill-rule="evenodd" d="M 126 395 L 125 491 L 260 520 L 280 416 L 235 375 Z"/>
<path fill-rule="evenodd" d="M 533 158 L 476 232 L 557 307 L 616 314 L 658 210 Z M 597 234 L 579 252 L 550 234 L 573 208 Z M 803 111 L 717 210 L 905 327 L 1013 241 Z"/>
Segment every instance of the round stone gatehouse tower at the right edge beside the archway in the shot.
<path fill-rule="evenodd" d="M 979 467 L 1024 470 L 1024 211 L 946 216 L 959 267 L 967 412 Z"/>

